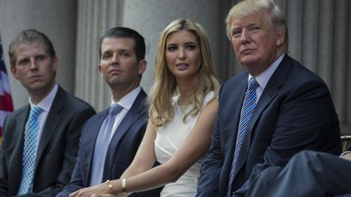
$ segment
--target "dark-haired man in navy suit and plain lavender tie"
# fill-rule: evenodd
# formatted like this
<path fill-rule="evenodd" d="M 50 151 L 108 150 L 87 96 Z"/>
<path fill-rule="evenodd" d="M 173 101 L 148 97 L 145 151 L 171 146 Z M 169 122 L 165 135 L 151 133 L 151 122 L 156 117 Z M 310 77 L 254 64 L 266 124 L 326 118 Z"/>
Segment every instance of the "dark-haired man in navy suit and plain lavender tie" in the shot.
<path fill-rule="evenodd" d="M 112 107 L 86 122 L 71 182 L 58 196 L 68 196 L 69 193 L 84 187 L 101 184 L 109 179 L 118 179 L 131 164 L 148 121 L 146 94 L 139 86 L 146 64 L 145 42 L 138 32 L 126 27 L 115 27 L 102 36 L 98 70 L 112 90 L 111 106 L 119 104 L 123 109 L 114 121 L 110 141 L 102 142 L 107 147 L 106 153 L 98 153 L 102 158 L 94 153 L 98 148 L 98 136 L 104 132 L 102 128 L 107 119 L 107 112 Z M 105 161 L 100 163 L 100 166 L 95 166 L 96 160 Z M 95 172 L 98 169 L 98 176 L 94 168 Z M 106 188 L 109 189 L 109 184 L 106 184 Z M 159 189 L 155 189 L 131 196 L 159 196 L 159 192 Z"/>

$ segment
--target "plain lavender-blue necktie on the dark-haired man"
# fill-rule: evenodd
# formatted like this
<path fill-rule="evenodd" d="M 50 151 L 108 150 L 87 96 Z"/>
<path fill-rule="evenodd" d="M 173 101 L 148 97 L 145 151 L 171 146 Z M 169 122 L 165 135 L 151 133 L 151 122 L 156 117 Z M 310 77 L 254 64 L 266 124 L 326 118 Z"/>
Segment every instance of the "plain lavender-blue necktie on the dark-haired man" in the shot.
<path fill-rule="evenodd" d="M 91 168 L 91 182 L 90 186 L 102 183 L 102 174 L 104 172 L 105 157 L 107 148 L 110 144 L 110 137 L 112 133 L 112 127 L 116 115 L 121 111 L 123 107 L 119 104 L 113 104 L 109 113 L 107 114 L 105 121 L 102 123 L 98 137 L 96 138 L 93 166 Z"/>

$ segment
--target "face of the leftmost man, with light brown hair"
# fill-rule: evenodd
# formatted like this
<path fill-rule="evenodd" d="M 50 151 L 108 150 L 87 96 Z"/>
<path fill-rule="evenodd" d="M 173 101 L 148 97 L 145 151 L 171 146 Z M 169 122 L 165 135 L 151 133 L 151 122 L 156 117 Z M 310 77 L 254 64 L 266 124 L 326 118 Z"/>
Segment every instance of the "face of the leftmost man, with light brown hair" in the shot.
<path fill-rule="evenodd" d="M 15 48 L 15 59 L 11 73 L 28 90 L 29 95 L 50 92 L 55 84 L 58 60 L 46 53 L 44 43 L 20 43 Z"/>

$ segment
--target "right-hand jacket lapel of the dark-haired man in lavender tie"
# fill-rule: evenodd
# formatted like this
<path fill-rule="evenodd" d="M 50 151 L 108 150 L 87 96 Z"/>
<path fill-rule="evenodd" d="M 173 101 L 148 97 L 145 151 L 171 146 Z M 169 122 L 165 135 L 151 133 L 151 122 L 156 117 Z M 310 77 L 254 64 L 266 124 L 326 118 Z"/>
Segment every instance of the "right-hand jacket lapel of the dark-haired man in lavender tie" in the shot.
<path fill-rule="evenodd" d="M 138 120 L 139 116 L 142 115 L 141 107 L 143 105 L 143 102 L 145 102 L 145 98 L 146 93 L 144 92 L 144 90 L 141 90 L 138 94 L 138 97 L 136 97 L 135 101 L 133 102 L 131 109 L 129 109 L 126 116 L 124 116 L 121 123 L 119 123 L 119 126 L 117 127 L 116 132 L 114 132 L 110 145 L 107 149 L 104 168 L 105 170 L 110 170 L 110 168 L 112 168 L 112 162 L 114 162 L 114 159 L 116 157 L 115 153 L 117 151 L 117 147 L 119 145 L 119 142 L 121 141 L 121 138 L 127 133 L 129 128 L 131 128 L 135 121 Z M 103 177 L 105 177 L 105 179 L 109 179 L 110 177 L 106 177 L 109 173 L 106 173 L 105 170 Z"/>

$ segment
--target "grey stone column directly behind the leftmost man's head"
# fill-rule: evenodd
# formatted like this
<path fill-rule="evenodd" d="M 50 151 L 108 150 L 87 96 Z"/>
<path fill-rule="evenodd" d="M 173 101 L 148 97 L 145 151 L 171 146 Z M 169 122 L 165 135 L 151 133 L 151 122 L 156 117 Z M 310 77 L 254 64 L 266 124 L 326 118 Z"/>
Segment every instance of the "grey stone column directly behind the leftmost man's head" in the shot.
<path fill-rule="evenodd" d="M 58 83 L 73 93 L 77 1 L 1 0 L 0 5 L 0 33 L 8 73 L 8 45 L 22 30 L 37 29 L 53 42 L 59 64 L 56 76 Z M 28 102 L 27 90 L 12 76 L 9 79 L 14 107 L 17 109 Z"/>

